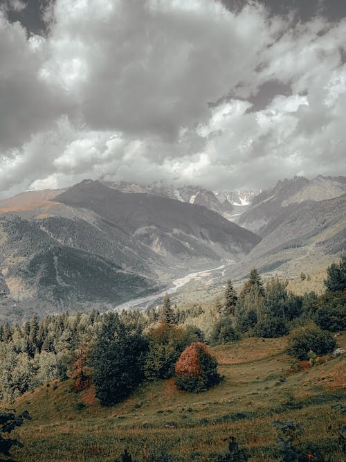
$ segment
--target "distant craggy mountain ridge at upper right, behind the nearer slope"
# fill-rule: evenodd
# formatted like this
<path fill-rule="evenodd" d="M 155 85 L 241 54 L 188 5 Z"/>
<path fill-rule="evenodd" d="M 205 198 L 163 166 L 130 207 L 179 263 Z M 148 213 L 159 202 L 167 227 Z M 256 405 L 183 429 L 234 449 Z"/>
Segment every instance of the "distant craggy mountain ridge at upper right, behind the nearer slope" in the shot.
<path fill-rule="evenodd" d="M 274 188 L 263 190 L 253 198 L 248 211 L 237 223 L 260 236 L 267 236 L 303 202 L 317 202 L 338 197 L 346 192 L 346 177 L 322 177 L 309 181 L 294 177 L 278 181 Z"/>

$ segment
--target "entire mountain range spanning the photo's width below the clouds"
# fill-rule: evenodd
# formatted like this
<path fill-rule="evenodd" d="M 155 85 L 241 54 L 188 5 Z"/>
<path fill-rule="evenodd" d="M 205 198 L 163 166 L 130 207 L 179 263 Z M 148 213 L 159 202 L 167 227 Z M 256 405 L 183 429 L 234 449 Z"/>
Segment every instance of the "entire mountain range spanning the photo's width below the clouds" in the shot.
<path fill-rule="evenodd" d="M 230 262 L 238 280 L 313 272 L 345 251 L 345 191 L 322 176 L 257 195 L 84 180 L 3 199 L 0 315 L 103 310 Z"/>

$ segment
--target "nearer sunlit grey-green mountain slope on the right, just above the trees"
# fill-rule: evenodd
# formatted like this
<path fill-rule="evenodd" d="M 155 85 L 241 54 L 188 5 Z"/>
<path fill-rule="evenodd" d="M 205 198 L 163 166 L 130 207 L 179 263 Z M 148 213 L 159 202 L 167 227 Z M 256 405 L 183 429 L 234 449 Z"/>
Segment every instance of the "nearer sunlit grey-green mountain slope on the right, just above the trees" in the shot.
<path fill-rule="evenodd" d="M 345 254 L 346 194 L 324 201 L 304 201 L 272 222 L 262 241 L 237 265 L 234 278 L 252 267 L 286 277 L 316 272 Z"/>

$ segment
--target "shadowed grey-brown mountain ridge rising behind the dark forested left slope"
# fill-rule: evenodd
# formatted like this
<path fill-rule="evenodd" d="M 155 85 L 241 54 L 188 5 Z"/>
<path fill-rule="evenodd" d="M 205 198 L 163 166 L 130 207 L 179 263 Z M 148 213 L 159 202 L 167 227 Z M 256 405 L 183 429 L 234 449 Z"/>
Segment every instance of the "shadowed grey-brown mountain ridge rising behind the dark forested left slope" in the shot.
<path fill-rule="evenodd" d="M 180 241 L 185 251 L 193 250 L 189 245 L 192 239 L 196 244 L 209 247 L 210 251 L 222 245 L 235 254 L 246 254 L 260 241 L 255 234 L 203 206 L 143 193 L 121 193 L 99 181 L 83 181 L 55 197 L 55 201 L 89 208 L 125 233 L 144 240 L 146 245 L 150 245 L 151 240 L 156 241 L 158 236 L 166 236 L 172 242 Z M 188 239 L 188 245 L 184 239 Z"/>

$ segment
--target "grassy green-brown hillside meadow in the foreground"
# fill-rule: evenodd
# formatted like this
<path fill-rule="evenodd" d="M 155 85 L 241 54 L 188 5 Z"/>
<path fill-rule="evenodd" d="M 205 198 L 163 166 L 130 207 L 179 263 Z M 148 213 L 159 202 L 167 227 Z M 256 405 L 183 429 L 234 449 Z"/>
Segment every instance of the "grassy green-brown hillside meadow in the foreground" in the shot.
<path fill-rule="evenodd" d="M 342 462 L 336 442 L 345 416 L 332 406 L 346 402 L 345 359 L 291 373 L 286 341 L 243 339 L 212 348 L 224 380 L 206 393 L 178 391 L 174 380 L 163 380 L 141 384 L 111 408 L 100 407 L 93 389 L 71 391 L 70 381 L 26 393 L 15 408 L 28 409 L 33 420 L 17 430 L 24 448 L 12 456 L 22 462 L 107 462 L 128 447 L 139 461 L 164 461 L 166 451 L 174 461 L 212 461 L 233 435 L 251 461 L 277 461 L 271 422 L 291 419 L 304 425 L 302 441 L 312 454 L 320 448 Z M 346 332 L 338 343 L 346 346 Z"/>

